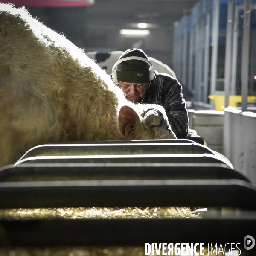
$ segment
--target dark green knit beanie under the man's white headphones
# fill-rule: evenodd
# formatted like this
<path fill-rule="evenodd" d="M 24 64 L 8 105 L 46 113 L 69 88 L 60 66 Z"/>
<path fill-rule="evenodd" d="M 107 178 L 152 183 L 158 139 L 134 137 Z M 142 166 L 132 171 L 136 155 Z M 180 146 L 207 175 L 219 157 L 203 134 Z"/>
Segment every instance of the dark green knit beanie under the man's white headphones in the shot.
<path fill-rule="evenodd" d="M 148 59 L 145 52 L 140 49 L 128 49 L 119 58 L 142 57 Z M 128 60 L 119 63 L 116 67 L 116 78 L 118 81 L 126 83 L 146 83 L 149 79 L 149 65 L 145 61 Z"/>

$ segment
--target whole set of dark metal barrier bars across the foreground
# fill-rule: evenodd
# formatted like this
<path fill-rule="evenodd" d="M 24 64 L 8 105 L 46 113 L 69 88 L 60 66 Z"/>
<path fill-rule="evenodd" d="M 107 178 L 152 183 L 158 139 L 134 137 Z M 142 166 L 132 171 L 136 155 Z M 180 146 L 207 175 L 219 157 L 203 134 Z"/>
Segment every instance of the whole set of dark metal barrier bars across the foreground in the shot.
<path fill-rule="evenodd" d="M 255 237 L 256 187 L 212 151 L 180 141 L 53 143 L 34 148 L 15 166 L 0 169 L 0 209 L 199 206 L 231 207 L 240 210 L 238 215 L 234 211 L 227 218 L 203 219 L 2 219 L 0 245 L 241 243 L 248 234 Z M 88 155 L 79 155 L 81 148 Z"/>

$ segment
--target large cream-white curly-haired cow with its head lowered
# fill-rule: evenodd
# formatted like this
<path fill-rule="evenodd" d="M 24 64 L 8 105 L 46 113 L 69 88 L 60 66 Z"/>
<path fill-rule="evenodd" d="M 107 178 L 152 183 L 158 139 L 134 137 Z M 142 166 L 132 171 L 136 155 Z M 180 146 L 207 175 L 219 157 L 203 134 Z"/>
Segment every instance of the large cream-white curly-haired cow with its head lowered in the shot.
<path fill-rule="evenodd" d="M 0 3 L 0 166 L 50 141 L 176 138 L 166 126 L 162 107 L 128 102 L 81 49 Z"/>

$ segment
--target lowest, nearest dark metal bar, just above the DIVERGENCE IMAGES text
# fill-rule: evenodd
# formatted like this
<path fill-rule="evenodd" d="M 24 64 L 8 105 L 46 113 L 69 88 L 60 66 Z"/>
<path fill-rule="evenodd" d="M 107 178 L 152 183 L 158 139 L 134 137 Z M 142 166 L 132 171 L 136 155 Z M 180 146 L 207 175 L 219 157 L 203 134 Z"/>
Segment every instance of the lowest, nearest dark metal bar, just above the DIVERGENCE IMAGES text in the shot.
<path fill-rule="evenodd" d="M 239 243 L 256 235 L 255 218 L 2 220 L 5 247 L 143 246 L 145 243 Z M 197 230 L 198 232 L 185 232 Z M 204 232 L 208 230 L 209 232 Z M 221 232 L 220 232 L 221 230 Z M 230 244 L 229 244 L 230 245 Z M 235 246 L 233 244 L 233 246 Z M 255 247 L 250 253 L 255 253 Z M 255 254 L 251 254 L 255 255 Z"/>

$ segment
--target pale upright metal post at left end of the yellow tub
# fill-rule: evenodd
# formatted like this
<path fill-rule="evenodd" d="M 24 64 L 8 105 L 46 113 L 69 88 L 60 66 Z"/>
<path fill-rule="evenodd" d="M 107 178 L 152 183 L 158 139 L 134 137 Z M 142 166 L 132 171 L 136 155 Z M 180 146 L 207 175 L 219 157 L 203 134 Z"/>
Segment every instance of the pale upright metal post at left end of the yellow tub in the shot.
<path fill-rule="evenodd" d="M 217 61 L 218 61 L 218 33 L 220 18 L 220 0 L 214 0 L 213 27 L 212 27 L 212 68 L 211 68 L 211 94 L 216 91 Z M 211 108 L 214 109 L 214 100 L 211 100 Z"/>

